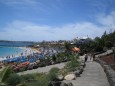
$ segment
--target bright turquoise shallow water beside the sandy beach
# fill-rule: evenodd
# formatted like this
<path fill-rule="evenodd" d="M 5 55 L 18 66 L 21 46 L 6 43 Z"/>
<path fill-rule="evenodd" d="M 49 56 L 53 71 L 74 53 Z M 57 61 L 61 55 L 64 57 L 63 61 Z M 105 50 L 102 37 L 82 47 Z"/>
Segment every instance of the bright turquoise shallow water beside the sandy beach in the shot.
<path fill-rule="evenodd" d="M 8 55 L 15 55 L 23 52 L 23 49 L 18 47 L 4 47 L 0 46 L 0 57 L 5 57 Z"/>

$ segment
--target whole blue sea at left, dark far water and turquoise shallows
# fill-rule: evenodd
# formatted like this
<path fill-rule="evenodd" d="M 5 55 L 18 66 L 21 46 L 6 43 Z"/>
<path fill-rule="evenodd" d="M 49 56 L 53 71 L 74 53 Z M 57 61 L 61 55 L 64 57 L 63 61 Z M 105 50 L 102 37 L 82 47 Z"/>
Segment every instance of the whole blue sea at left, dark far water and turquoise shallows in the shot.
<path fill-rule="evenodd" d="M 0 57 L 6 57 L 11 55 L 19 55 L 22 53 L 25 47 L 32 45 L 31 42 L 7 42 L 7 41 L 0 41 Z"/>

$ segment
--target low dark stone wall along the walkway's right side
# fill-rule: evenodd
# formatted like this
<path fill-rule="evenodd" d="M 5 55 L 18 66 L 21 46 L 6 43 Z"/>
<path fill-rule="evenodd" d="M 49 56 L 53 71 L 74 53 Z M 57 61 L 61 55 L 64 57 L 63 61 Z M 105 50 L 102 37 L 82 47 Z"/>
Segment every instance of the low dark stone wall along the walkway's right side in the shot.
<path fill-rule="evenodd" d="M 110 86 L 115 86 L 115 71 L 111 68 L 110 65 L 107 65 L 106 62 L 100 60 L 99 58 L 96 61 L 100 63 L 103 67 L 107 75 L 108 81 L 110 83 Z"/>

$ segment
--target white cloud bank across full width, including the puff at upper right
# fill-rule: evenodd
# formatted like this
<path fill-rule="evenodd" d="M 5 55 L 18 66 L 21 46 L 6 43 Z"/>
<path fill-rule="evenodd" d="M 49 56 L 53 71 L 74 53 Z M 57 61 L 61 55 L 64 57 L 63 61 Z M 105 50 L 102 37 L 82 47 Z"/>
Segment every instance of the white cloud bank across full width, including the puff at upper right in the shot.
<path fill-rule="evenodd" d="M 15 20 L 2 28 L 0 39 L 22 41 L 71 40 L 87 35 L 89 37 L 101 36 L 104 31 L 115 30 L 115 11 L 108 15 L 97 15 L 95 20 L 97 23 L 84 21 L 56 27 Z"/>

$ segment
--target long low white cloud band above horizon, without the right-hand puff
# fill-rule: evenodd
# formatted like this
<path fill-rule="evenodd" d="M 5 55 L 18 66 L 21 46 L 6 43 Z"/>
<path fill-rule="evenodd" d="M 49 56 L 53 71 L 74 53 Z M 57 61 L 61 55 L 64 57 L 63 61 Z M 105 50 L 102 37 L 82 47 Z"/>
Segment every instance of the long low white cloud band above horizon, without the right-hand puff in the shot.
<path fill-rule="evenodd" d="M 46 25 L 36 25 L 30 22 L 14 21 L 0 32 L 0 39 L 7 40 L 71 40 L 75 37 L 97 36 L 103 31 L 93 23 L 67 24 L 62 27 L 51 27 Z M 100 32 L 99 32 L 100 31 Z"/>

